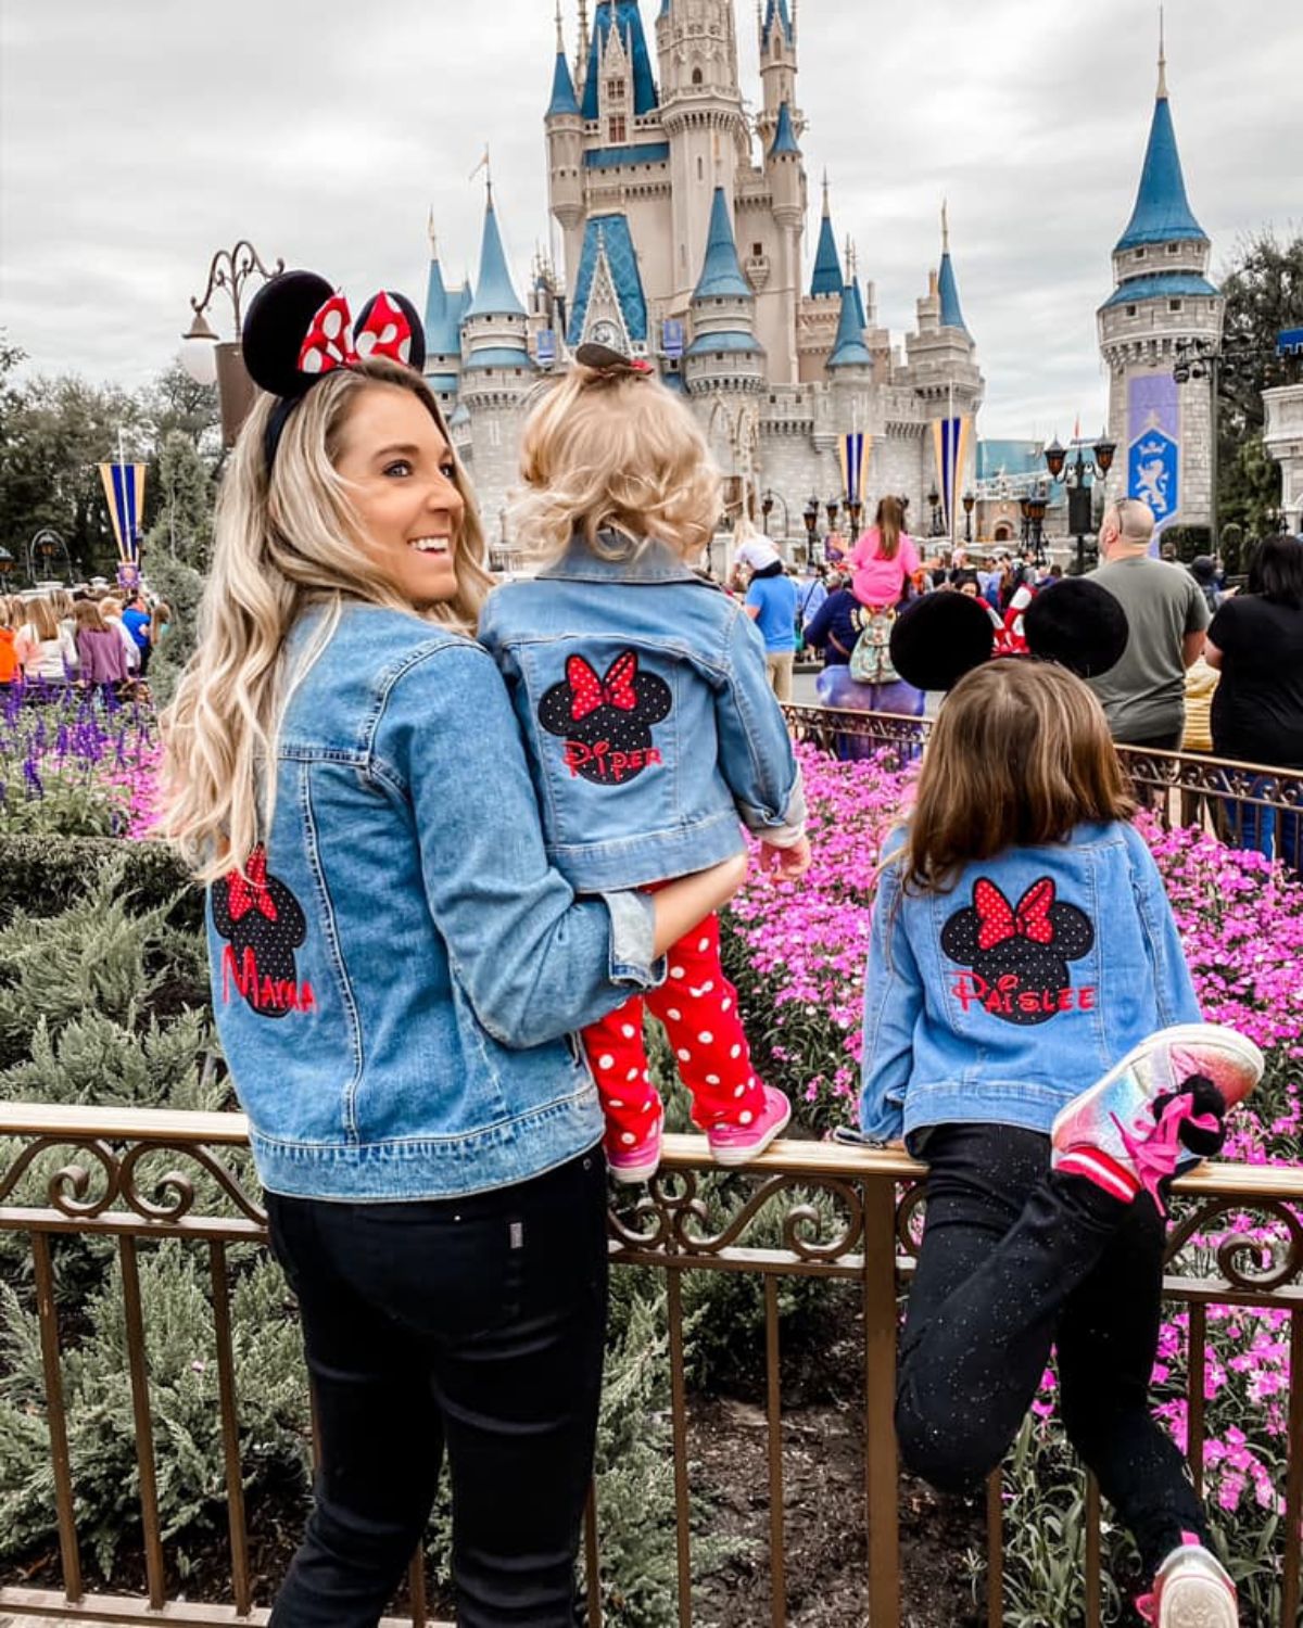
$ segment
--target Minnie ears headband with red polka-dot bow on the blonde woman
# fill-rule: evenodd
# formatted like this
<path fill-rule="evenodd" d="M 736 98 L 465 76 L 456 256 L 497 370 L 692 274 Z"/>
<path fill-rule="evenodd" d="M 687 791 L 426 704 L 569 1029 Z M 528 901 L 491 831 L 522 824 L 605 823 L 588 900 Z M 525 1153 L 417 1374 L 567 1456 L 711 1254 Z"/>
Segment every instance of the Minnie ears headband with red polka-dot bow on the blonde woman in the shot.
<path fill-rule="evenodd" d="M 389 357 L 420 373 L 425 330 L 412 301 L 391 290 L 371 295 L 353 321 L 349 301 L 324 277 L 282 272 L 254 295 L 243 352 L 254 384 L 280 397 L 264 441 L 270 470 L 290 414 L 318 379 L 371 357 Z"/>

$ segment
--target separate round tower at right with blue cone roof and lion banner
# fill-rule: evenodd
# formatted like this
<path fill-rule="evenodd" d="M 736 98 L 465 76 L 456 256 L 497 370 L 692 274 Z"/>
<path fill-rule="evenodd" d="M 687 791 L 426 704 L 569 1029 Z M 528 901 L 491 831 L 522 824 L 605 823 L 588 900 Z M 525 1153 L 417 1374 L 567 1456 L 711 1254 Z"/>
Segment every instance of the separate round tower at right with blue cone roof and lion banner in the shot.
<path fill-rule="evenodd" d="M 1179 340 L 1222 337 L 1225 300 L 1209 282 L 1210 251 L 1186 197 L 1160 44 L 1140 189 L 1112 251 L 1114 291 L 1098 314 L 1109 438 L 1125 454 L 1114 464 L 1109 493 L 1148 503 L 1160 527 L 1212 519 L 1212 379 L 1173 379 Z"/>

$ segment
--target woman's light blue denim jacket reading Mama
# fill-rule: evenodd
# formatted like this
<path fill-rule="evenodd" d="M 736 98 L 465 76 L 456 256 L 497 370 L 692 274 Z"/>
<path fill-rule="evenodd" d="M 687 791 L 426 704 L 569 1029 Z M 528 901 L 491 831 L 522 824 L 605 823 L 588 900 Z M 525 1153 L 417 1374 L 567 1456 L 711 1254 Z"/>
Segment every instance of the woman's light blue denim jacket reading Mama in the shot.
<path fill-rule="evenodd" d="M 308 612 L 290 661 L 322 630 Z M 293 666 L 292 666 L 293 671 Z M 290 692 L 270 840 L 208 889 L 213 1008 L 277 1193 L 443 1198 L 591 1148 L 564 1037 L 655 987 L 650 900 L 577 902 L 467 638 L 349 606 Z"/>

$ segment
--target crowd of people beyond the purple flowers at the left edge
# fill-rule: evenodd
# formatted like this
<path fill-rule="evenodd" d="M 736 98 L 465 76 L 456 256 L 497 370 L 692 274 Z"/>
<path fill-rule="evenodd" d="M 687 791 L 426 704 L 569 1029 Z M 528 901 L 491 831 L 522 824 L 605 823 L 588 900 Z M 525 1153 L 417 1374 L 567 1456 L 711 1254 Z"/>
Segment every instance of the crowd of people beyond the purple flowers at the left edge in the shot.
<path fill-rule="evenodd" d="M 145 697 L 150 658 L 171 610 L 140 589 L 107 583 L 0 594 L 0 689 L 33 697 L 80 687 L 119 700 Z"/>

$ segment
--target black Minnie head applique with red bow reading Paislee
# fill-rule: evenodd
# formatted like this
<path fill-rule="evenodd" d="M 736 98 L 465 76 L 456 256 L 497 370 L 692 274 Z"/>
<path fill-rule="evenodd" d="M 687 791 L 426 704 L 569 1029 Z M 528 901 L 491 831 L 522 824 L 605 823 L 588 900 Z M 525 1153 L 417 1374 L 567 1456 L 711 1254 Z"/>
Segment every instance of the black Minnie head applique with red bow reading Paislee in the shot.
<path fill-rule="evenodd" d="M 1055 899 L 1049 876 L 1033 882 L 1016 905 L 982 876 L 972 886 L 972 904 L 941 928 L 945 954 L 972 969 L 951 985 L 963 1009 L 981 1006 L 992 1017 L 1021 1026 L 1095 1006 L 1095 987 L 1073 988 L 1068 972 L 1068 962 L 1080 961 L 1093 944 L 1090 917 Z"/>

